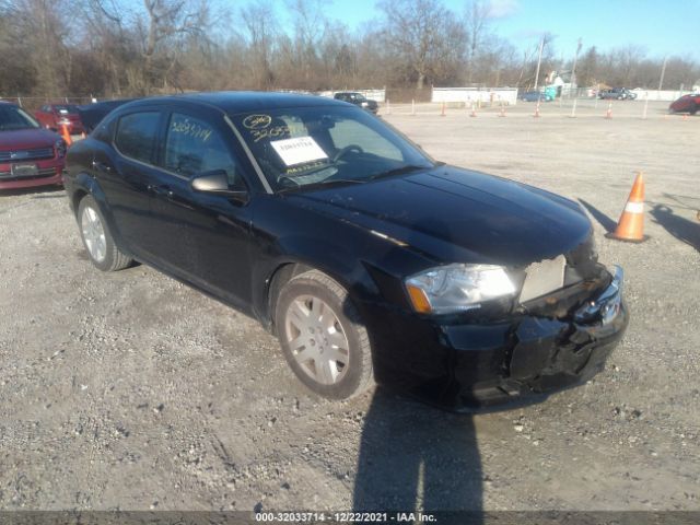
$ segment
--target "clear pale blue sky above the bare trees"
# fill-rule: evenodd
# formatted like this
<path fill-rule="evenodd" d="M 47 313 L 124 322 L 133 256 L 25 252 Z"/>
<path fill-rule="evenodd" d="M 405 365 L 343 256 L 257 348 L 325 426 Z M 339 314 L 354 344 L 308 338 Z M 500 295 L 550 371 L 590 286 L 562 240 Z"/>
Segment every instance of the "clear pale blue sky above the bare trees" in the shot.
<path fill-rule="evenodd" d="M 443 0 L 462 13 L 466 0 Z M 606 51 L 630 44 L 648 57 L 697 59 L 700 0 L 490 0 L 490 25 L 518 48 L 536 45 L 542 33 L 556 36 L 557 56 L 572 57 L 576 42 L 583 49 Z M 326 14 L 351 28 L 376 18 L 375 0 L 332 0 Z"/>

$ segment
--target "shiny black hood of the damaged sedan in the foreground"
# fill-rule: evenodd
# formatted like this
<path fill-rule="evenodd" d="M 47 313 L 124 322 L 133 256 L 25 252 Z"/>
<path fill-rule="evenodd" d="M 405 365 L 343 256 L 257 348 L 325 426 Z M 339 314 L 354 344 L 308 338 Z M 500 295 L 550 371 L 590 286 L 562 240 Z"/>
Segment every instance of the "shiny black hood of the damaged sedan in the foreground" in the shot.
<path fill-rule="evenodd" d="M 527 265 L 568 253 L 592 233 L 569 199 L 453 166 L 290 198 L 442 261 Z"/>

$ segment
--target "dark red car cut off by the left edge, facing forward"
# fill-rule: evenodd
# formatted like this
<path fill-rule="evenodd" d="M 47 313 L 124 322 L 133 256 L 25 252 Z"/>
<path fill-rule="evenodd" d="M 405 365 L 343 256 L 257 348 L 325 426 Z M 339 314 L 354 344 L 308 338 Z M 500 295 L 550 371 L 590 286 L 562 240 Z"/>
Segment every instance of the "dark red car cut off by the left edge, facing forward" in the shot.
<path fill-rule="evenodd" d="M 24 109 L 0 102 L 0 190 L 62 184 L 66 142 Z"/>

